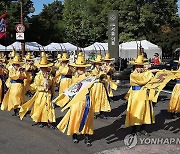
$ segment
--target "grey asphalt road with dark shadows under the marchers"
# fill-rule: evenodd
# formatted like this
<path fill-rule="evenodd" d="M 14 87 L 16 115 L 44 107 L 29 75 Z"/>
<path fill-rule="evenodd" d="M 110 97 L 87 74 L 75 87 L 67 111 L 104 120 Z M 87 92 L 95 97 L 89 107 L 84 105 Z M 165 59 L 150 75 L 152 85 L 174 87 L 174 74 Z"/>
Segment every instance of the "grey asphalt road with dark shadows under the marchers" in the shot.
<path fill-rule="evenodd" d="M 34 122 L 27 116 L 21 121 L 18 117 L 11 116 L 13 112 L 0 111 L 0 152 L 2 154 L 90 154 L 90 153 L 164 153 L 171 151 L 180 153 L 180 145 L 137 145 L 127 149 L 124 138 L 131 131 L 125 128 L 125 113 L 127 103 L 124 95 L 129 88 L 128 83 L 122 83 L 114 92 L 112 111 L 106 113 L 108 119 L 94 120 L 94 136 L 92 146 L 84 144 L 83 136 L 80 136 L 78 144 L 72 142 L 71 136 L 67 136 L 58 130 L 39 128 L 32 126 Z M 162 92 L 159 102 L 155 105 L 156 123 L 149 126 L 151 137 L 178 138 L 180 137 L 180 117 L 172 119 L 167 112 L 170 94 Z M 65 113 L 56 108 L 57 123 Z M 145 136 L 141 136 L 145 138 Z M 138 143 L 139 144 L 139 143 Z M 153 150 L 152 150 L 153 149 Z M 152 151 L 151 151 L 152 150 Z"/>

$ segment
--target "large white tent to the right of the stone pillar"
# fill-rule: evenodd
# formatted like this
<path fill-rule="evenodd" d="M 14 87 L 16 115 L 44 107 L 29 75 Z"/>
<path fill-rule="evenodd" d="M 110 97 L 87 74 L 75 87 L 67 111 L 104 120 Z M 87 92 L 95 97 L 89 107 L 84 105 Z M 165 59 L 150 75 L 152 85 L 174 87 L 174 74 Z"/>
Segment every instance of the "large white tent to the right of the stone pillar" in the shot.
<path fill-rule="evenodd" d="M 136 58 L 137 57 L 137 48 L 144 48 L 144 52 L 146 52 L 148 58 L 153 58 L 154 53 L 159 53 L 160 57 L 162 57 L 162 50 L 157 45 L 147 41 L 131 41 L 122 43 L 119 45 L 119 56 L 121 58 Z"/>

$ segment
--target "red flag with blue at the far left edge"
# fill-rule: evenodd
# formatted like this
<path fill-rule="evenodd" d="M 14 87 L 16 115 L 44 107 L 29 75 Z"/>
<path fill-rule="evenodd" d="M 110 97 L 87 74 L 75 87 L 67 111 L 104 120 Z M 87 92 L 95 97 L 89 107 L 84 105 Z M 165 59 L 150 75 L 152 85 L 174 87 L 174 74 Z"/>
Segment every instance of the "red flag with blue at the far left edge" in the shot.
<path fill-rule="evenodd" d="M 6 36 L 6 17 L 7 13 L 0 16 L 0 39 Z"/>

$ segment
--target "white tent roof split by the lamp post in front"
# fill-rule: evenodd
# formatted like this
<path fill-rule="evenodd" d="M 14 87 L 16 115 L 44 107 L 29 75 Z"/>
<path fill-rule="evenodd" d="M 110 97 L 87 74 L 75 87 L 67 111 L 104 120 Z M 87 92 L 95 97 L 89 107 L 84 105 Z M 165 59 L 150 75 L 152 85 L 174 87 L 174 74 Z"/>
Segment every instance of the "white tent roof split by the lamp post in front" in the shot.
<path fill-rule="evenodd" d="M 7 51 L 12 51 L 13 48 L 16 51 L 21 51 L 21 42 L 14 42 L 13 44 L 7 46 Z M 43 50 L 43 47 L 37 42 L 25 42 L 25 50 L 26 51 L 39 51 Z"/>

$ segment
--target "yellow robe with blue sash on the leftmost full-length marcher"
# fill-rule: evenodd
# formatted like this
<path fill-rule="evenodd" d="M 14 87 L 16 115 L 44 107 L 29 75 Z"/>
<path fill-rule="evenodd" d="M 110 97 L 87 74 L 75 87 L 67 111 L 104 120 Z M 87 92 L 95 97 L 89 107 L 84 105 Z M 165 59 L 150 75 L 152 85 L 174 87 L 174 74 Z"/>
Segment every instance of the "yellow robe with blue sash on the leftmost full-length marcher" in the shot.
<path fill-rule="evenodd" d="M 26 73 L 23 73 L 24 78 L 26 78 Z M 9 78 L 14 83 L 10 84 L 7 93 L 4 96 L 1 110 L 11 111 L 12 109 L 20 108 L 20 106 L 25 102 L 25 90 L 23 79 L 21 79 L 22 74 L 19 71 L 11 69 L 9 72 Z M 19 81 L 22 81 L 21 83 Z"/>

